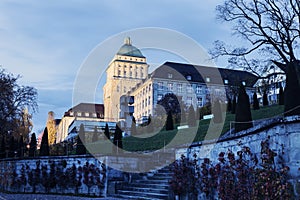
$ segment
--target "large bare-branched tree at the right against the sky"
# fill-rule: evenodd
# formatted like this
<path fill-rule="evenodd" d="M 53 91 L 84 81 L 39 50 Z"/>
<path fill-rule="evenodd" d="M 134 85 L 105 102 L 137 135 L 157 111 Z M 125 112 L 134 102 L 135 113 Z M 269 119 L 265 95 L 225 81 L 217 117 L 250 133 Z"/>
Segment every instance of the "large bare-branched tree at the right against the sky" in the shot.
<path fill-rule="evenodd" d="M 299 0 L 225 0 L 217 6 L 217 18 L 233 24 L 236 36 L 243 39 L 243 47 L 215 41 L 210 51 L 213 58 L 229 56 L 229 63 L 262 76 L 277 65 L 286 75 L 285 103 L 288 115 L 300 114 L 300 2 Z M 253 59 L 255 57 L 255 59 Z M 276 73 L 277 74 L 277 73 Z M 272 76 L 274 74 L 270 74 Z M 267 78 L 267 77 L 261 77 Z M 291 112 L 291 110 L 293 110 Z"/>

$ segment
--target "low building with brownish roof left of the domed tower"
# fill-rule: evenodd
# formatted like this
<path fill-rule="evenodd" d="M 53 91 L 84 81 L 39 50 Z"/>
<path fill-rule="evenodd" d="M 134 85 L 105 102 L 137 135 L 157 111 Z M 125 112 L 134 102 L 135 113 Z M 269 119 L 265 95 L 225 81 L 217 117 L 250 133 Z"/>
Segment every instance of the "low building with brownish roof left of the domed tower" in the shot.
<path fill-rule="evenodd" d="M 72 131 L 74 132 L 74 126 L 72 126 L 73 124 L 78 124 L 78 122 L 81 122 L 85 126 L 90 126 L 90 124 L 92 124 L 94 127 L 95 124 L 100 124 L 100 122 L 103 121 L 103 104 L 80 103 L 65 112 L 57 127 L 56 143 L 63 142 Z"/>

